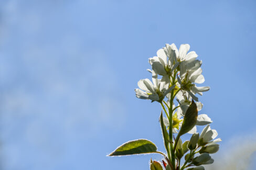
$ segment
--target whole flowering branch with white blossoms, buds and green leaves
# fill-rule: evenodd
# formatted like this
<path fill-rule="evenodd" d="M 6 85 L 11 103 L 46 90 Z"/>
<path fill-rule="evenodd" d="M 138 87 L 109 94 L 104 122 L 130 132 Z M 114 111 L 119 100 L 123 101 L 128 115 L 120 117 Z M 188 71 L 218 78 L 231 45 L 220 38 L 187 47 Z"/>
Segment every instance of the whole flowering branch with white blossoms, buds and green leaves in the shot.
<path fill-rule="evenodd" d="M 168 157 L 157 151 L 154 143 L 145 139 L 126 142 L 109 156 L 162 154 L 167 163 L 163 160 L 162 166 L 161 163 L 151 160 L 151 170 L 163 170 L 163 168 L 166 170 L 183 170 L 185 168 L 201 170 L 205 169 L 201 165 L 214 162 L 209 154 L 219 150 L 217 142 L 220 142 L 221 139 L 214 140 L 218 133 L 216 130 L 211 130 L 209 126 L 209 123 L 212 122 L 211 119 L 206 114 L 198 115 L 202 104 L 196 96 L 197 94 L 202 95 L 202 92 L 208 91 L 210 87 L 196 86 L 205 81 L 201 74 L 202 61 L 197 60 L 198 55 L 195 51 L 188 52 L 189 48 L 189 44 L 182 44 L 178 50 L 173 43 L 166 44 L 163 49 L 159 49 L 157 56 L 148 61 L 152 66 L 152 70 L 148 70 L 152 73 L 152 82 L 147 78 L 140 80 L 138 81 L 140 88 L 135 89 L 137 98 L 157 101 L 165 112 L 166 118 L 161 112 L 159 122 Z M 196 126 L 205 125 L 207 126 L 199 135 Z M 190 140 L 183 143 L 181 137 L 185 133 L 193 135 Z M 190 152 L 186 154 L 188 151 Z M 185 163 L 181 166 L 183 156 Z M 194 167 L 188 168 L 190 166 Z"/>

